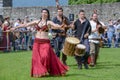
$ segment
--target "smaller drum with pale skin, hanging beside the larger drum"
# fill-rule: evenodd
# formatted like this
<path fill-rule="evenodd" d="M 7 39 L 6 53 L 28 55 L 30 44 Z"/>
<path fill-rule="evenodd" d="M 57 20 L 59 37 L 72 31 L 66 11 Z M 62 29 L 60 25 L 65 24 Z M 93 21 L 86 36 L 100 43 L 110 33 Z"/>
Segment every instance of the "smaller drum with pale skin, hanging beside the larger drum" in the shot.
<path fill-rule="evenodd" d="M 75 55 L 83 56 L 85 54 L 86 46 L 83 44 L 78 44 L 75 49 Z"/>

